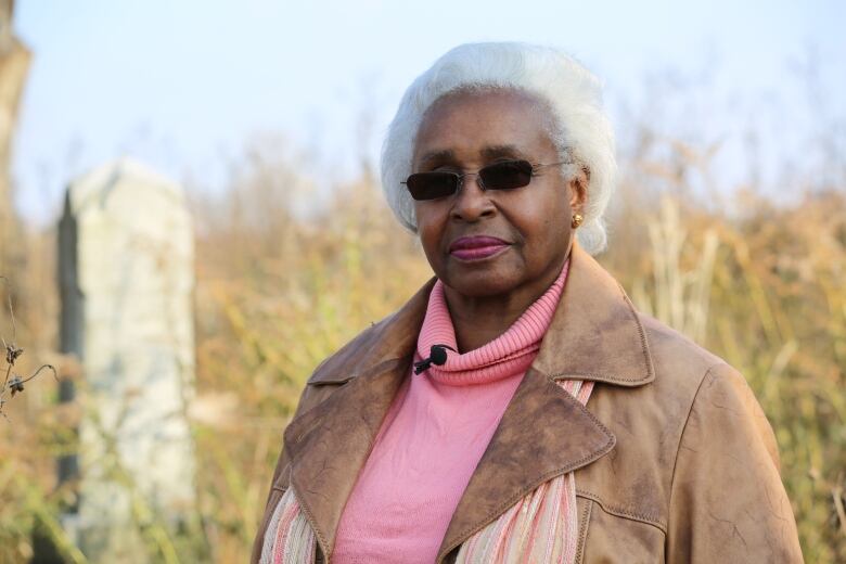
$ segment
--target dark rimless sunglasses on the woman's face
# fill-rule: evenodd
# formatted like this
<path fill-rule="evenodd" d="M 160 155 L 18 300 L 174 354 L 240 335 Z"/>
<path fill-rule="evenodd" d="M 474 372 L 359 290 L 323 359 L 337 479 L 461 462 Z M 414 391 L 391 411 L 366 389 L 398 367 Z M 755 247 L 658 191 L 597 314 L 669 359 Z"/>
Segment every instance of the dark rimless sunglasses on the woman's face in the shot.
<path fill-rule="evenodd" d="M 537 169 L 563 164 L 533 165 L 528 161 L 503 161 L 480 168 L 478 172 L 415 172 L 401 183 L 406 184 L 414 200 L 436 200 L 458 192 L 466 176 L 478 175 L 482 190 L 514 190 L 528 185 Z"/>

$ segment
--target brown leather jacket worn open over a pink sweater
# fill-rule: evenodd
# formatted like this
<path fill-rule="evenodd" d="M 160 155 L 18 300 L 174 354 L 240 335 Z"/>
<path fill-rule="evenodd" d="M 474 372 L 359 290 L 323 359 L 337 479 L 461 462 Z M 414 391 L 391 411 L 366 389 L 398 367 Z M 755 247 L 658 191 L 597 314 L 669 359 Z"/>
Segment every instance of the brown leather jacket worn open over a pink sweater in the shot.
<path fill-rule="evenodd" d="M 433 283 L 324 360 L 308 381 L 284 433 L 253 562 L 290 487 L 319 553 L 331 554 L 344 503 L 409 374 Z M 772 430 L 743 376 L 637 312 L 578 246 L 561 299 L 437 562 L 450 562 L 497 515 L 573 470 L 576 562 L 802 562 Z M 598 383 L 587 408 L 553 383 L 559 379 Z"/>

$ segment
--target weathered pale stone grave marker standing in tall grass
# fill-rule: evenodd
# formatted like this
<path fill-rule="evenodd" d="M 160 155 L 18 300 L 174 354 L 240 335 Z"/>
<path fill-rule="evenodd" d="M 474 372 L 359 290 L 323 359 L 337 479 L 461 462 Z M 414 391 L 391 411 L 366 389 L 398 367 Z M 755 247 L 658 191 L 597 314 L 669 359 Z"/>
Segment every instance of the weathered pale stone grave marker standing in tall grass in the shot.
<path fill-rule="evenodd" d="M 72 182 L 60 222 L 61 345 L 80 359 L 79 478 L 64 525 L 94 562 L 139 562 L 138 521 L 194 501 L 193 231 L 181 188 L 129 158 Z"/>

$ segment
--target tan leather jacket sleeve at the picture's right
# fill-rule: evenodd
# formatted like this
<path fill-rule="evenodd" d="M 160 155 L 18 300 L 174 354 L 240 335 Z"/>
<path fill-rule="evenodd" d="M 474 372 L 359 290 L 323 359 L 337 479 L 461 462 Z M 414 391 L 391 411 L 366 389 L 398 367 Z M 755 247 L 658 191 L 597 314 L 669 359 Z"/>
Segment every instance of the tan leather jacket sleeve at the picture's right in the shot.
<path fill-rule="evenodd" d="M 803 562 L 772 428 L 727 364 L 703 379 L 681 435 L 667 562 Z"/>

